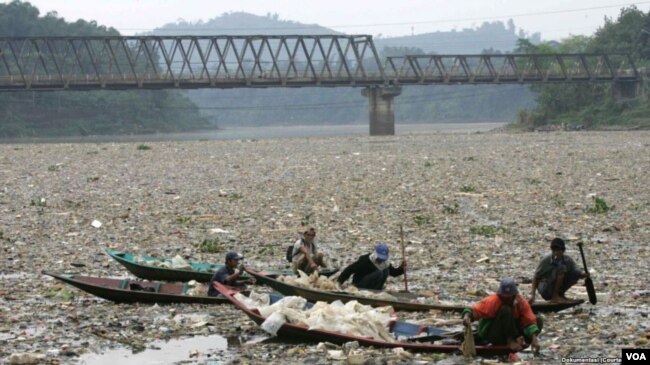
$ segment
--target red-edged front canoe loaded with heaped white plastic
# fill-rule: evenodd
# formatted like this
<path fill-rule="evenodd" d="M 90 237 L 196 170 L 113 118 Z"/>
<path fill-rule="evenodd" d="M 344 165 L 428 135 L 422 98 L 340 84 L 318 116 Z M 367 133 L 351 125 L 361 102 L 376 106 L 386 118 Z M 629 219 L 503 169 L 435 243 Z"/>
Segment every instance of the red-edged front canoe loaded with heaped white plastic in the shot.
<path fill-rule="evenodd" d="M 221 283 L 214 283 L 214 286 L 224 297 L 230 300 L 237 308 L 241 309 L 255 323 L 258 325 L 264 323 L 266 318 L 263 317 L 256 308 L 249 308 L 234 297 L 238 292 L 237 289 L 222 285 Z M 280 298 L 281 296 L 271 295 L 271 303 L 274 303 Z M 306 308 L 309 308 L 310 306 L 311 304 L 307 303 Z M 304 324 L 292 323 L 284 323 L 278 330 L 277 336 L 304 342 L 330 342 L 338 345 L 343 345 L 350 341 L 357 341 L 359 345 L 362 346 L 384 348 L 401 347 L 405 350 L 414 352 L 460 352 L 461 342 L 457 338 L 457 334 L 445 329 L 394 320 L 390 323 L 389 331 L 395 335 L 396 338 L 399 338 L 399 340 L 389 342 L 331 330 L 310 330 Z M 476 340 L 476 353 L 478 355 L 497 356 L 506 355 L 510 352 L 511 351 L 506 346 L 481 344 L 478 339 Z"/>

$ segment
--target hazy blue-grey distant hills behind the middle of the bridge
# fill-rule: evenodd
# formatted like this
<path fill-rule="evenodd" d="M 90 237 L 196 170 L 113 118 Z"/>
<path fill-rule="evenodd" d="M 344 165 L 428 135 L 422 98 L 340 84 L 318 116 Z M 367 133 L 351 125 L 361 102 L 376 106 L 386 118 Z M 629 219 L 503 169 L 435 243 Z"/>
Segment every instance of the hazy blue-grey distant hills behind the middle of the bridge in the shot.
<path fill-rule="evenodd" d="M 210 34 L 336 34 L 318 26 L 279 19 L 224 13 L 204 22 L 166 24 L 156 35 Z M 484 23 L 476 29 L 435 32 L 399 38 L 375 38 L 380 57 L 423 53 L 481 53 L 511 51 L 525 32 L 514 23 Z M 529 39 L 539 41 L 539 34 Z M 368 102 L 360 88 L 230 89 L 189 91 L 204 115 L 219 124 L 290 125 L 368 122 Z M 405 87 L 395 99 L 396 120 L 404 122 L 512 121 L 517 111 L 534 106 L 527 86 Z"/>

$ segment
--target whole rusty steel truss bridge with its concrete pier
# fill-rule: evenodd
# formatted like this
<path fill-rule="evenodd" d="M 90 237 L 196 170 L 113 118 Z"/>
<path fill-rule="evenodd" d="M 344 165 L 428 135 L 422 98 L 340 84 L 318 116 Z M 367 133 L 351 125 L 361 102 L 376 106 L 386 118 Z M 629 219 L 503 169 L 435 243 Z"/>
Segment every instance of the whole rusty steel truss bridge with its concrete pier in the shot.
<path fill-rule="evenodd" d="M 402 85 L 609 82 L 630 94 L 642 80 L 627 54 L 380 60 L 369 35 L 0 38 L 0 91 L 363 87 L 371 134 L 394 133 Z"/>

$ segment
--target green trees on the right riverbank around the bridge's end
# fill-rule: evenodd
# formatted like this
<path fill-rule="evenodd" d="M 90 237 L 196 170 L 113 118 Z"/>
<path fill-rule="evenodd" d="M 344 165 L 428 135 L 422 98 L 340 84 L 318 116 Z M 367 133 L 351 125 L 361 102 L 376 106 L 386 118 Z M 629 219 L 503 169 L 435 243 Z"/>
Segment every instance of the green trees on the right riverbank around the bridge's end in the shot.
<path fill-rule="evenodd" d="M 533 85 L 537 106 L 522 110 L 513 129 L 650 129 L 650 13 L 636 7 L 624 8 L 617 19 L 605 24 L 591 37 L 573 36 L 561 42 L 532 44 L 519 41 L 524 53 L 627 53 L 645 75 L 643 92 L 631 98 L 617 98 L 611 83 Z M 632 65 L 628 65 L 630 70 Z"/>

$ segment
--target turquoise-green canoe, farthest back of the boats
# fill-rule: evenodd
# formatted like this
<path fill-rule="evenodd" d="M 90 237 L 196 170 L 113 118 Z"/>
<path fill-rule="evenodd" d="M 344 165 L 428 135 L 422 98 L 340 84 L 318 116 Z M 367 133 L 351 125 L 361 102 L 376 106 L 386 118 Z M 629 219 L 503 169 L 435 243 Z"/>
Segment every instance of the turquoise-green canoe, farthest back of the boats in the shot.
<path fill-rule="evenodd" d="M 172 260 L 130 252 L 106 249 L 106 253 L 122 264 L 133 275 L 146 280 L 182 281 L 196 280 L 207 283 L 212 275 L 223 267 L 223 264 L 210 264 L 205 262 L 187 261 L 190 268 L 179 269 L 172 267 Z M 321 275 L 330 276 L 338 269 L 325 269 L 319 271 Z M 291 270 L 269 271 L 270 276 L 293 275 Z"/>

